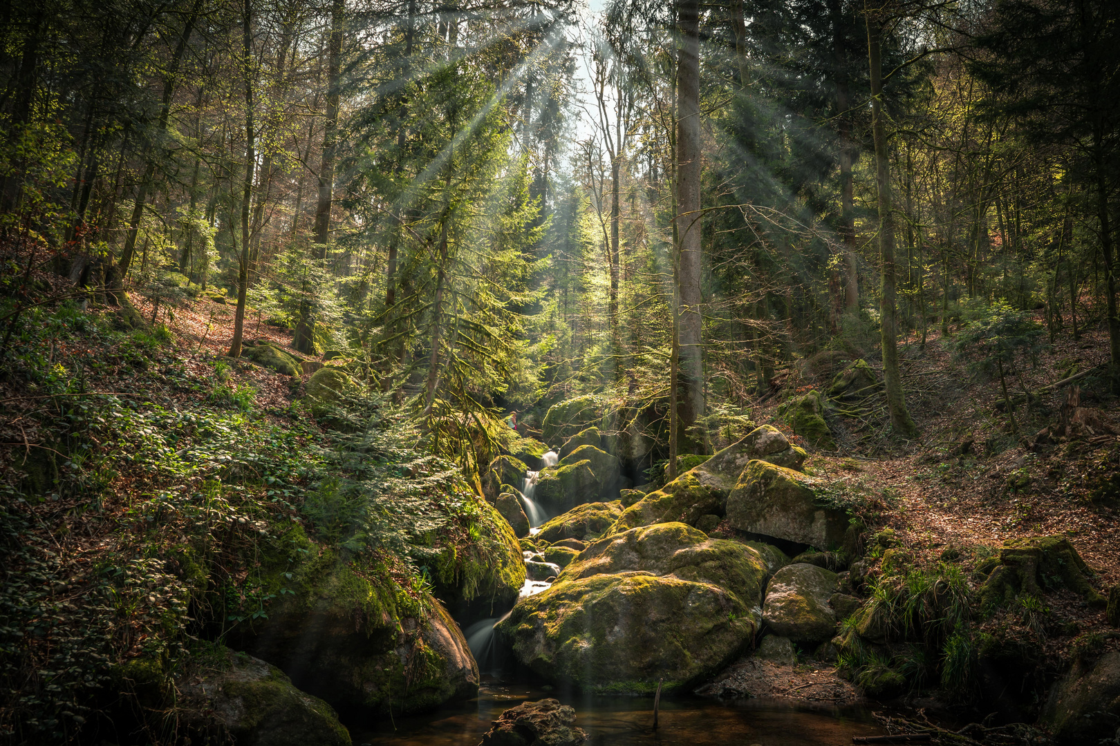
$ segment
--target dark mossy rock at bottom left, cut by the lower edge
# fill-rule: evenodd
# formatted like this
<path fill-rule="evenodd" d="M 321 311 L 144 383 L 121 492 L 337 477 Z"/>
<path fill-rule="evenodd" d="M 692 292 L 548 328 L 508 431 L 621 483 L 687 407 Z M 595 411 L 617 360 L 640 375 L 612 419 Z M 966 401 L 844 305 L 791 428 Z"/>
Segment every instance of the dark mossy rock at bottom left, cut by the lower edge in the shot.
<path fill-rule="evenodd" d="M 177 687 L 177 709 L 188 729 L 205 731 L 213 718 L 246 746 L 349 746 L 330 705 L 251 655 L 215 646 L 204 669 L 183 677 Z"/>

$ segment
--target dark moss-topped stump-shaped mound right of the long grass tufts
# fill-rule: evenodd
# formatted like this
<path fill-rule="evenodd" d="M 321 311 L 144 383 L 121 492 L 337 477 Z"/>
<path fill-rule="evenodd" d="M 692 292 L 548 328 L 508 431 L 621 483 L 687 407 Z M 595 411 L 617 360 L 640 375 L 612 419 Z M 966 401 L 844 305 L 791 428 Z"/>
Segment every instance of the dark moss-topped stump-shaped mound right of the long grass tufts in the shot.
<path fill-rule="evenodd" d="M 1062 536 L 1009 539 L 999 550 L 999 565 L 980 588 L 988 608 L 1004 605 L 1019 594 L 1040 596 L 1065 588 L 1080 594 L 1091 605 L 1103 608 L 1105 597 L 1089 584 L 1092 573 Z"/>

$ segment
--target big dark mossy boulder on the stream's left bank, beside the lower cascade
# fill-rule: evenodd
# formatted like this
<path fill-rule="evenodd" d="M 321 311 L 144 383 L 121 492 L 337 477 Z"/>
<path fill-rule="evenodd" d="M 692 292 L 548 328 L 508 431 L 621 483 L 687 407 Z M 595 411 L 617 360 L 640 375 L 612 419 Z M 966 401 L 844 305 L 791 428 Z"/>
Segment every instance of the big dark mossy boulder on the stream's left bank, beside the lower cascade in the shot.
<path fill-rule="evenodd" d="M 520 546 L 508 526 L 505 531 L 517 547 L 523 584 Z M 298 548 L 288 544 L 288 551 Z M 440 602 L 418 604 L 373 560 L 323 550 L 292 568 L 287 557 L 264 568 L 262 592 L 277 596 L 268 616 L 231 631 L 231 646 L 279 667 L 338 708 L 416 712 L 477 695 L 478 668 Z"/>

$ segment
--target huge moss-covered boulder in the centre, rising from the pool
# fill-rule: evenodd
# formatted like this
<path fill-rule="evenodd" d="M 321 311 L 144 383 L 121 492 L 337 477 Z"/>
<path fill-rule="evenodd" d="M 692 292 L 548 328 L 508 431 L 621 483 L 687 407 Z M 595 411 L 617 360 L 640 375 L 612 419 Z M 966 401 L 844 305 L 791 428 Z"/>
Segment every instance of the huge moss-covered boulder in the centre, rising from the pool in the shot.
<path fill-rule="evenodd" d="M 592 544 L 498 624 L 539 674 L 598 692 L 680 690 L 729 663 L 760 625 L 766 565 L 683 523 Z"/>

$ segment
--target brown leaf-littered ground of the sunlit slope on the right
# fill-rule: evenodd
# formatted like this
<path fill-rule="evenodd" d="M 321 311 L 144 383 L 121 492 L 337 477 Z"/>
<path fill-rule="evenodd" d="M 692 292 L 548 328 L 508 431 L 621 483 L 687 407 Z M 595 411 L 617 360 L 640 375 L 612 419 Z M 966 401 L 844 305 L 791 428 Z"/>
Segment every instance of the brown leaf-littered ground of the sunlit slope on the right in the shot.
<path fill-rule="evenodd" d="M 1014 413 L 1017 433 L 1012 433 L 1001 410 L 999 381 L 969 375 L 965 361 L 954 357 L 951 340 L 934 332 L 924 349 L 913 339 L 900 346 L 899 353 L 920 436 L 909 442 L 890 436 L 885 405 L 876 400 L 862 418 L 829 417 L 838 450 L 810 447 L 805 471 L 833 488 L 861 493 L 871 507 L 866 516 L 871 528 L 895 529 L 915 566 L 934 566 L 952 556 L 970 574 L 997 555 L 1006 540 L 1058 535 L 1071 541 L 1093 570 L 1098 591 L 1107 594 L 1120 584 L 1120 437 L 1114 434 L 1120 433 L 1120 399 L 1108 391 L 1103 375 L 1090 374 L 1071 385 L 1081 387 L 1082 406 L 1094 408 L 1104 428 L 1067 442 L 1042 438 L 1036 443 L 1035 434 L 1057 423 L 1066 386 L 1032 399 L 1029 412 L 1020 403 Z M 1036 365 L 1023 366 L 1023 383 L 1036 391 L 1107 360 L 1107 330 L 1086 329 L 1079 340 L 1062 333 Z M 802 371 L 786 385 L 823 390 L 831 372 Z M 1010 393 L 1021 390 L 1017 381 Z M 806 445 L 783 422 L 778 406 L 784 398 L 764 400 L 756 418 Z M 1076 631 L 1042 635 L 1052 673 L 1072 658 L 1073 646 L 1084 635 L 1101 634 L 1107 648 L 1120 648 L 1107 634 L 1103 608 L 1086 605 L 1070 591 L 1049 594 L 1046 603 L 1051 629 L 1064 622 L 1073 623 L 1066 629 Z M 1006 623 L 1005 618 L 987 624 Z M 787 689 L 785 697 L 811 697 Z"/>

